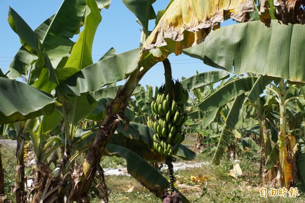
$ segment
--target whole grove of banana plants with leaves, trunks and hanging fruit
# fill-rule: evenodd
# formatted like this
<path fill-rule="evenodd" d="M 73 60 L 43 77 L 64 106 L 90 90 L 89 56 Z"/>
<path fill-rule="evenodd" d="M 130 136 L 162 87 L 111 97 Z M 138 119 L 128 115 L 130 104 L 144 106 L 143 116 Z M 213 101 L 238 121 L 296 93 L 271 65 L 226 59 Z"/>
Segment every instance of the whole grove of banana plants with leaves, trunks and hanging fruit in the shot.
<path fill-rule="evenodd" d="M 304 2 L 168 0 L 158 12 L 155 2 L 123 0 L 141 25 L 140 46 L 111 48 L 96 63 L 93 42 L 111 0 L 64 0 L 37 28 L 9 8 L 21 44 L 0 71 L 0 136 L 16 140 L 17 165 L 7 193 L 0 151 L 0 202 L 90 202 L 93 188 L 109 202 L 106 156 L 125 159 L 159 202 L 191 202 L 173 162 L 196 157 L 181 143 L 192 133 L 213 164 L 253 149 L 261 187 L 304 190 Z M 229 18 L 238 23 L 222 27 Z M 218 70 L 174 80 L 172 53 Z M 141 86 L 156 64 L 164 84 Z M 168 166 L 169 180 L 156 163 Z"/>

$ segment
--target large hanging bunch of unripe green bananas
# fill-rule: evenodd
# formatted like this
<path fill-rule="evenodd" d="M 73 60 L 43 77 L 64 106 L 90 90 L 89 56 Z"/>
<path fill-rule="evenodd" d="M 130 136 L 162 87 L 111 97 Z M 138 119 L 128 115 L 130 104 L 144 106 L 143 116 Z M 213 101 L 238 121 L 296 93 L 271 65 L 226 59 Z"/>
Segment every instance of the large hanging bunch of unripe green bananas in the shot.
<path fill-rule="evenodd" d="M 172 81 L 172 97 L 165 93 L 165 85 L 159 88 L 157 96 L 151 102 L 154 119 L 147 118 L 147 125 L 155 129 L 154 149 L 162 156 L 172 156 L 178 151 L 178 143 L 185 139 L 182 125 L 187 121 L 185 103 L 189 98 L 179 81 Z"/>

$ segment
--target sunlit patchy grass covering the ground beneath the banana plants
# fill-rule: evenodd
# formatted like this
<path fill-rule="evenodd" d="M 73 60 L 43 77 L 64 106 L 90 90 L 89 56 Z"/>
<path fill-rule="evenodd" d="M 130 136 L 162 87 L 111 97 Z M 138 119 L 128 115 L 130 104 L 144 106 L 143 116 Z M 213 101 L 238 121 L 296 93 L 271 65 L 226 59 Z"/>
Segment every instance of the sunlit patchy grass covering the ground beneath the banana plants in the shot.
<path fill-rule="evenodd" d="M 189 136 L 185 141 L 188 146 L 194 145 L 194 136 Z M 6 170 L 6 192 L 9 195 L 11 185 L 15 180 L 15 150 L 9 147 L 1 148 L 3 156 L 3 165 Z M 192 162 L 202 163 L 201 167 L 188 168 L 175 172 L 177 180 L 176 187 L 183 193 L 191 202 L 305 202 L 305 196 L 300 193 L 300 197 L 268 197 L 260 196 L 259 189 L 261 188 L 259 180 L 259 154 L 255 152 L 243 152 L 238 157 L 238 162 L 234 160 L 223 160 L 219 166 L 210 164 L 211 157 L 198 154 Z M 181 162 L 181 160 L 177 160 Z M 242 175 L 234 179 L 229 176 L 229 169 L 238 163 L 242 169 Z M 102 160 L 104 168 L 118 166 L 126 166 L 126 161 L 117 157 L 105 157 Z M 168 179 L 167 171 L 163 172 Z M 31 168 L 26 168 L 26 176 L 31 173 Z M 106 184 L 109 189 L 110 202 L 162 202 L 154 194 L 146 189 L 127 192 L 127 190 L 139 183 L 128 176 L 107 176 Z M 100 202 L 98 194 L 92 192 L 92 202 Z"/>

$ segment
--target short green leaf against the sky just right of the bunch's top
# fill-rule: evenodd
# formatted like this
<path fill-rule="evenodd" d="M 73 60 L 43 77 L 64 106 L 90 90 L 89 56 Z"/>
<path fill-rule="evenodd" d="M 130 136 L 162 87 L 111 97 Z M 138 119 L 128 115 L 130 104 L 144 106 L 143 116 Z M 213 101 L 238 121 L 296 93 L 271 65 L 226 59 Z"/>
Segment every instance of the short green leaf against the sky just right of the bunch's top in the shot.
<path fill-rule="evenodd" d="M 184 88 L 192 91 L 195 88 L 200 88 L 201 86 L 227 79 L 229 76 L 227 71 L 209 71 L 184 79 L 181 81 L 181 84 Z"/>

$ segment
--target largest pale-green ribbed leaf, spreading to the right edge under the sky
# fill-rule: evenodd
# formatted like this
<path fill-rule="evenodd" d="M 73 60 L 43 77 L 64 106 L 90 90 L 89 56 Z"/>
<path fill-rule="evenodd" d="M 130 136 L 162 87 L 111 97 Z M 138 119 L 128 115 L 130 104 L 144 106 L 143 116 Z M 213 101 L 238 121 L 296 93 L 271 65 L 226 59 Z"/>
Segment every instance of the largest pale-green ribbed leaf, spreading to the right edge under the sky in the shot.
<path fill-rule="evenodd" d="M 305 82 L 305 27 L 277 20 L 222 27 L 199 45 L 184 50 L 205 64 L 235 74 L 247 72 Z"/>

